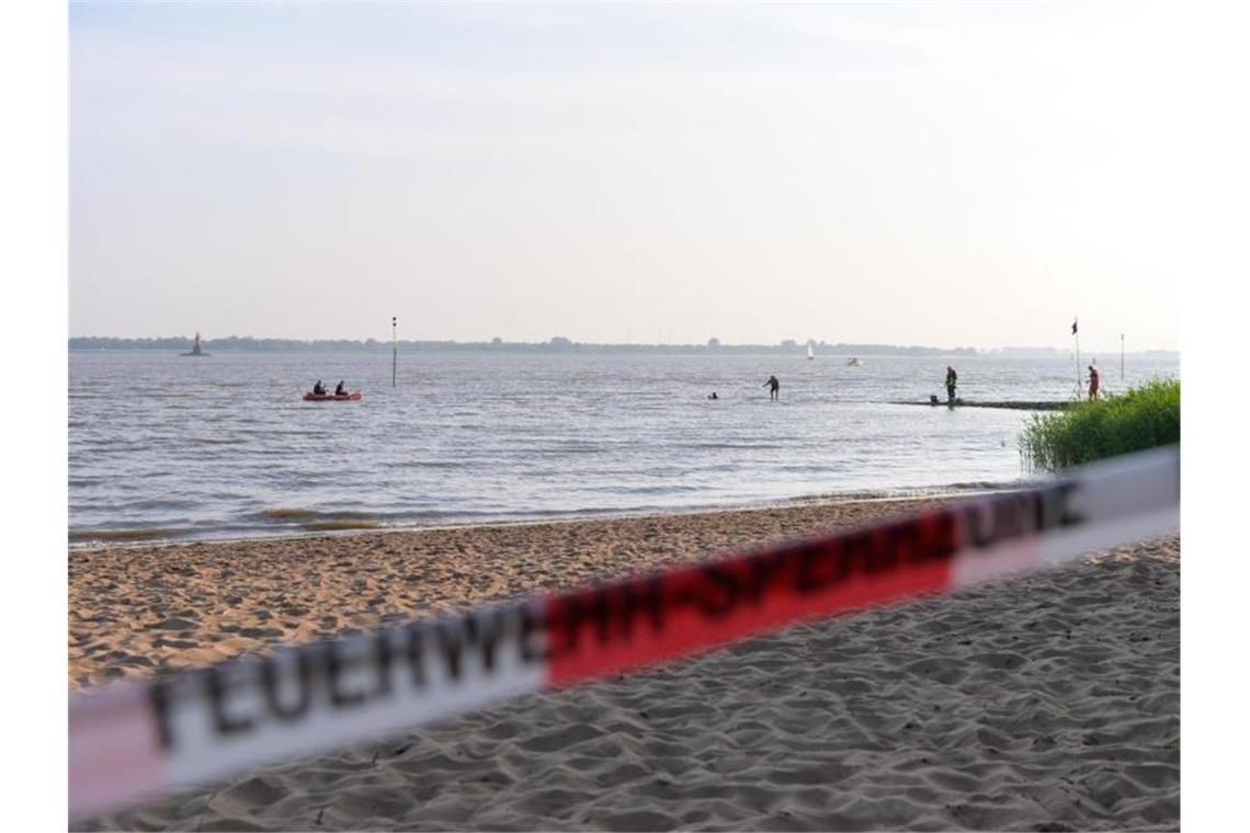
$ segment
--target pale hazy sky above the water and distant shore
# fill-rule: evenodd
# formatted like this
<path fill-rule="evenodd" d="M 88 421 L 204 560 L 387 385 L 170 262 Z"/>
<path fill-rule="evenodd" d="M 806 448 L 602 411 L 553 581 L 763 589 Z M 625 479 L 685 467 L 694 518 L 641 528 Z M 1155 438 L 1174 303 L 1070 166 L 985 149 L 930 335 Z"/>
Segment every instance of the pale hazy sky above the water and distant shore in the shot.
<path fill-rule="evenodd" d="M 1175 348 L 1170 14 L 75 4 L 70 332 Z"/>

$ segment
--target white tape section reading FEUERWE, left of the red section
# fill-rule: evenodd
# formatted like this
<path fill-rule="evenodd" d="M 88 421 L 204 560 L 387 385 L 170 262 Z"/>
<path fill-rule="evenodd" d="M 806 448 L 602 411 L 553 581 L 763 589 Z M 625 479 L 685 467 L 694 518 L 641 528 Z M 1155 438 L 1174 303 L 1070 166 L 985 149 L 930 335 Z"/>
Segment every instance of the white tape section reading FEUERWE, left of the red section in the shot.
<path fill-rule="evenodd" d="M 488 621 L 511 629 L 515 612 Z M 481 651 L 465 649 L 472 644 L 464 622 L 449 621 L 191 676 L 164 709 L 168 784 L 200 783 L 239 761 L 332 749 L 542 688 L 538 653 L 522 658 L 515 629 L 492 637 L 489 668 Z M 180 707 L 188 702 L 208 708 Z"/>

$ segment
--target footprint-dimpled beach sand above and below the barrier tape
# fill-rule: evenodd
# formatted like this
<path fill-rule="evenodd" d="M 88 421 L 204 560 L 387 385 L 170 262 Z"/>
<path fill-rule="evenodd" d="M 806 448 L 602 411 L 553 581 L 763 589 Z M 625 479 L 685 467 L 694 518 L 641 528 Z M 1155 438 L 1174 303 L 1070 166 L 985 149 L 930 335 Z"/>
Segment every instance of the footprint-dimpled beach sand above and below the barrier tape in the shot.
<path fill-rule="evenodd" d="M 916 508 L 70 553 L 70 686 Z M 801 626 L 80 829 L 1176 829 L 1180 542 Z"/>

